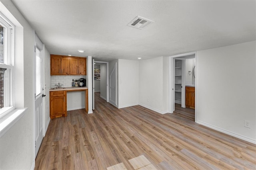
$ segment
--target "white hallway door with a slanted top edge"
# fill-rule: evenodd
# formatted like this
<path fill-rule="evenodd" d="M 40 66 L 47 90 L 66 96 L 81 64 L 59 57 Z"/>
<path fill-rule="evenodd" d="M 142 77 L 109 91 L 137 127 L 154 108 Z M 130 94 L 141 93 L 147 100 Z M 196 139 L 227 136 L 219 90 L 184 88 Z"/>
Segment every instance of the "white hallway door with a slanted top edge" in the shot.
<path fill-rule="evenodd" d="M 116 105 L 116 64 L 110 73 L 110 100 L 111 104 Z"/>

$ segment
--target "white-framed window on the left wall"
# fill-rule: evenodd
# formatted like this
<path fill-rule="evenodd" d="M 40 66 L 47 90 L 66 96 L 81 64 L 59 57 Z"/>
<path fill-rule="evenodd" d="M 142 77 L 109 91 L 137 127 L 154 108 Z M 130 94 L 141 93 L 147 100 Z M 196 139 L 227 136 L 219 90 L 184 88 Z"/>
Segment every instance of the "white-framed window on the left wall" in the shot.
<path fill-rule="evenodd" d="M 14 109 L 14 26 L 0 13 L 0 117 Z"/>

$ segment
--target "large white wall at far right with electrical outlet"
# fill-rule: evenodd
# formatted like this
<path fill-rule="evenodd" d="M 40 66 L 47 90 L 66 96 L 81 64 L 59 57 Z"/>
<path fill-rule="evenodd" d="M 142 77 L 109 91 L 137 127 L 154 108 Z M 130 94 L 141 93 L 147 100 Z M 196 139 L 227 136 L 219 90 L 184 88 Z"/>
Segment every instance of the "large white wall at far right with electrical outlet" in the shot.
<path fill-rule="evenodd" d="M 252 41 L 197 52 L 196 121 L 256 144 L 255 47 Z"/>

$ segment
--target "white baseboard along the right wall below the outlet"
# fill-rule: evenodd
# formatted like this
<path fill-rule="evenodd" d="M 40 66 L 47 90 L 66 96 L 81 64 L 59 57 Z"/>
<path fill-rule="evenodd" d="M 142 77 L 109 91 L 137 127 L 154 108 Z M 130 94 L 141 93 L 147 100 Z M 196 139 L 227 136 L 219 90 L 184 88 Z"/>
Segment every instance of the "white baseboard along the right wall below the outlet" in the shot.
<path fill-rule="evenodd" d="M 238 134 L 236 134 L 236 133 L 227 131 L 227 130 L 225 130 L 225 129 L 222 129 L 222 128 L 219 128 L 219 127 L 216 127 L 216 126 L 209 125 L 209 124 L 204 123 L 204 122 L 202 122 L 202 121 L 196 121 L 196 123 L 198 123 L 198 124 L 200 124 L 200 125 L 204 125 L 204 126 L 206 126 L 206 127 L 209 127 L 209 128 L 214 129 L 214 130 L 216 130 L 216 131 L 220 131 L 220 132 L 222 132 L 222 133 L 228 134 L 228 135 L 230 135 L 230 136 L 237 137 L 237 138 L 242 139 L 242 140 L 244 140 L 244 141 L 247 141 L 247 142 L 256 144 L 256 140 L 255 140 L 255 139 L 251 139 L 251 138 L 248 138 L 248 137 L 245 137 L 245 136 L 242 136 L 242 135 L 238 135 Z"/>

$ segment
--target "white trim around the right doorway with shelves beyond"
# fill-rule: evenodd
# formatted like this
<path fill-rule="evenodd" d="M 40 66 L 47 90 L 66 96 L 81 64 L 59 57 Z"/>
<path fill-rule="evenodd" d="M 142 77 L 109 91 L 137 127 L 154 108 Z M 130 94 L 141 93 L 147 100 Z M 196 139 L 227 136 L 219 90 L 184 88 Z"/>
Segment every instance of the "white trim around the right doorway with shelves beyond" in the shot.
<path fill-rule="evenodd" d="M 180 54 L 180 55 L 173 55 L 173 56 L 170 56 L 169 57 L 169 113 L 173 113 L 174 111 L 174 107 L 173 107 L 173 102 L 174 101 L 174 95 L 173 95 L 173 88 L 174 88 L 174 76 L 172 75 L 174 73 L 174 62 L 173 62 L 173 59 L 176 58 L 176 57 L 183 57 L 183 56 L 187 56 L 187 55 L 195 55 L 195 59 L 196 59 L 196 77 L 197 77 L 197 68 L 198 68 L 198 65 L 197 65 L 197 56 L 196 56 L 196 52 L 191 52 L 191 53 L 185 53 L 185 54 Z M 196 96 L 197 95 L 197 78 L 195 78 L 195 90 L 196 90 Z M 197 121 L 197 98 L 195 99 L 195 122 Z"/>

